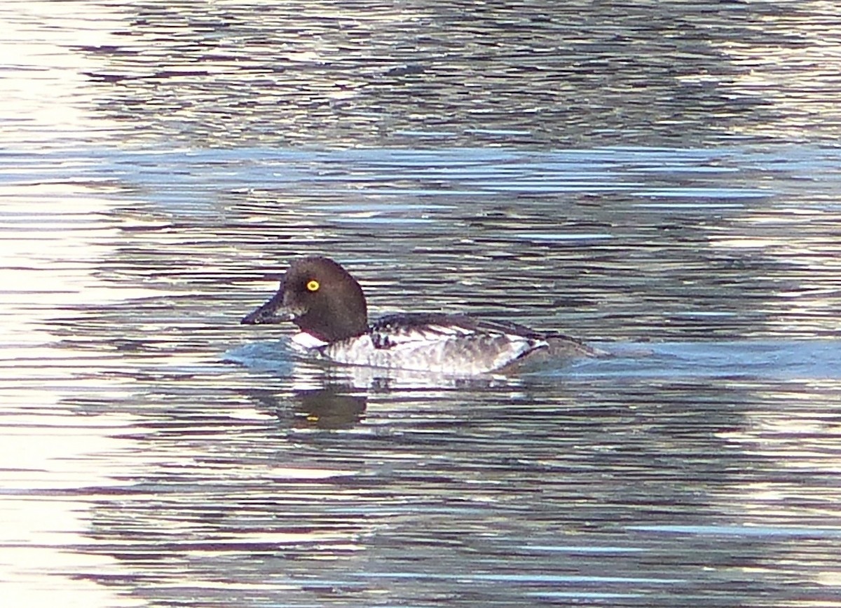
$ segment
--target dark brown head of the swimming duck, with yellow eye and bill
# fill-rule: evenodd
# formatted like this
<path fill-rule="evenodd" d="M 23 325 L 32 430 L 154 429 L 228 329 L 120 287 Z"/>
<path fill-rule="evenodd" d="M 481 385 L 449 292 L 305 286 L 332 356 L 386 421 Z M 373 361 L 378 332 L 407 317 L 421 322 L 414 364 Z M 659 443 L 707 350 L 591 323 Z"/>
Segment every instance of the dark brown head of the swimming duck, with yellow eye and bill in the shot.
<path fill-rule="evenodd" d="M 278 293 L 241 323 L 283 321 L 324 342 L 336 342 L 368 331 L 368 307 L 362 287 L 345 269 L 329 258 L 310 256 L 289 264 Z"/>

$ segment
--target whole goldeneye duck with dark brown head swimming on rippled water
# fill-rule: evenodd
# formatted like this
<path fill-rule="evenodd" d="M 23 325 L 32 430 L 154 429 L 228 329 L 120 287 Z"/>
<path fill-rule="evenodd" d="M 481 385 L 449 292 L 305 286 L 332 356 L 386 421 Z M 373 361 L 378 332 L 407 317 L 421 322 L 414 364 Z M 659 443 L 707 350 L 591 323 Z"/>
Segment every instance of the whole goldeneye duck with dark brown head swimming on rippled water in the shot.
<path fill-rule="evenodd" d="M 329 258 L 289 265 L 272 298 L 244 317 L 257 325 L 292 321 L 294 342 L 336 363 L 473 376 L 497 371 L 534 353 L 586 357 L 601 353 L 559 333 L 467 315 L 392 314 L 368 325 L 362 287 Z"/>

